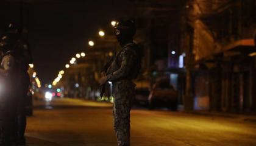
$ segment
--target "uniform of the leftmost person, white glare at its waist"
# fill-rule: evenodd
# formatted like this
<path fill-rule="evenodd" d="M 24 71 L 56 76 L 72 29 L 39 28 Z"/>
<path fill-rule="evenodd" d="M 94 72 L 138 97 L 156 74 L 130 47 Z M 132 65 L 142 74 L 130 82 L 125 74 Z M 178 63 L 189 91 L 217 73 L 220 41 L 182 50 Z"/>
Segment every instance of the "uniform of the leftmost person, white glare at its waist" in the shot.
<path fill-rule="evenodd" d="M 1 61 L 1 77 L 4 81 L 4 95 L 2 95 L 2 144 L 11 145 L 17 138 L 17 123 L 16 123 L 16 107 L 17 94 L 16 90 L 18 74 L 16 74 L 16 64 L 13 55 L 5 55 Z"/>

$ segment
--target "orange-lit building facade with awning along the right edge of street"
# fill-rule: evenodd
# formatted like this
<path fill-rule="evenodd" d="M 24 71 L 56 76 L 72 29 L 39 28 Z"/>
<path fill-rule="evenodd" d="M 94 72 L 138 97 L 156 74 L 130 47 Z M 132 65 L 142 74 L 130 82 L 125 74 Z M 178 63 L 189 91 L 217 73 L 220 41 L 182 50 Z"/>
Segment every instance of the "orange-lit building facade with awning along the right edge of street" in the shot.
<path fill-rule="evenodd" d="M 255 112 L 256 1 L 194 0 L 183 12 L 187 110 Z"/>

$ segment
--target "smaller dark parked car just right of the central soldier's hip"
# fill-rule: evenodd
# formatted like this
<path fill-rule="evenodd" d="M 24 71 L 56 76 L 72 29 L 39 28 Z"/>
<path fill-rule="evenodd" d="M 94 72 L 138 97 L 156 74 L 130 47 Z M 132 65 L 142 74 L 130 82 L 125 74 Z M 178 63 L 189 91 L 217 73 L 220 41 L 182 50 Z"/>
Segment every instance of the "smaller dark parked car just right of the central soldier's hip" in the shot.
<path fill-rule="evenodd" d="M 138 105 L 148 105 L 148 97 L 149 97 L 149 89 L 148 88 L 136 88 L 135 89 L 135 104 Z"/>

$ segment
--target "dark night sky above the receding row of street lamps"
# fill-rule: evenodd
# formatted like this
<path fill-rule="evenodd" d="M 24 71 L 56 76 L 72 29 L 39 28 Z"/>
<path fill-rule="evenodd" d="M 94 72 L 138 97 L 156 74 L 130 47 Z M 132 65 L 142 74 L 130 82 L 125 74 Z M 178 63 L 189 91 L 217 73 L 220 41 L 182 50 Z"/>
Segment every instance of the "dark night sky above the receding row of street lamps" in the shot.
<path fill-rule="evenodd" d="M 112 19 L 127 14 L 130 5 L 118 0 L 25 2 L 24 23 L 29 29 L 35 69 L 43 83 L 51 83 L 77 52 L 86 52 L 88 39 L 110 25 Z M 0 1 L 1 26 L 8 21 L 20 21 L 19 4 L 19 1 Z"/>

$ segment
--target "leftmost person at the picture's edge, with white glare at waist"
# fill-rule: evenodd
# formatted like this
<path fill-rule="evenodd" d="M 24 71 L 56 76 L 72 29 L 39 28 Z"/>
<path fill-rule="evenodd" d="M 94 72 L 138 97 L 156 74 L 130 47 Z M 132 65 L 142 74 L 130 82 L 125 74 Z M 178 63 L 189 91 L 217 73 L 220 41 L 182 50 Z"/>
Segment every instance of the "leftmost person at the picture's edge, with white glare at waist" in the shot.
<path fill-rule="evenodd" d="M 2 144 L 4 146 L 16 145 L 17 139 L 17 106 L 18 82 L 20 80 L 19 67 L 16 60 L 15 42 L 18 38 L 14 33 L 7 32 L 0 40 L 3 53 L 1 60 L 2 85 Z"/>

